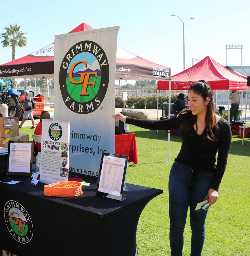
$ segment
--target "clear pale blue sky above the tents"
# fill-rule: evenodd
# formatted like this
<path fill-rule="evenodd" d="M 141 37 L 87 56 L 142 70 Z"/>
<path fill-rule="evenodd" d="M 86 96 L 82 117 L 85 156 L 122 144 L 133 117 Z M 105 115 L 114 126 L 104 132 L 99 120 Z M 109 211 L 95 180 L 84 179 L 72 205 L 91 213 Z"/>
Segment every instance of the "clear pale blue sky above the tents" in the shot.
<path fill-rule="evenodd" d="M 69 4 L 70 3 L 70 4 Z M 71 4 L 72 3 L 72 4 Z M 9 23 L 22 26 L 28 45 L 16 48 L 16 59 L 28 55 L 86 22 L 92 28 L 120 26 L 117 45 L 144 59 L 183 70 L 182 22 L 185 25 L 185 67 L 207 55 L 226 65 L 226 44 L 243 44 L 243 65 L 250 66 L 250 1 L 3 1 L 0 32 Z M 0 63 L 11 61 L 11 48 L 0 46 Z M 195 61 L 197 63 L 197 61 Z M 228 50 L 228 65 L 239 66 L 241 53 Z"/>

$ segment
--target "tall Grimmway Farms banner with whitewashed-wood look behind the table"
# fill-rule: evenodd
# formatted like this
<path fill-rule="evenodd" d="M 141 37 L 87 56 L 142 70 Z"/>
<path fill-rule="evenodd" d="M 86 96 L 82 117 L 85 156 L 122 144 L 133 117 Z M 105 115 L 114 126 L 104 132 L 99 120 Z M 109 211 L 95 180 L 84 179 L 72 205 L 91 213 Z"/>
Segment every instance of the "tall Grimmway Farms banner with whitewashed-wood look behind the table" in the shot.
<path fill-rule="evenodd" d="M 55 36 L 54 118 L 71 120 L 69 171 L 98 176 L 115 153 L 115 64 L 119 27 Z"/>

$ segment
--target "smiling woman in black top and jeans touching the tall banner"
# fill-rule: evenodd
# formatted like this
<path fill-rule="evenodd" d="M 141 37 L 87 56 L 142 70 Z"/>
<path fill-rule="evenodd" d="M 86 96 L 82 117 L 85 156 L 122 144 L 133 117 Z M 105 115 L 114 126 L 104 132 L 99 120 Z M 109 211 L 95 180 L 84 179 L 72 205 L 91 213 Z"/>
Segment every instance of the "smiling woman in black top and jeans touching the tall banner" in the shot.
<path fill-rule="evenodd" d="M 197 212 L 195 207 L 206 197 L 210 205 L 218 199 L 218 189 L 226 169 L 232 139 L 228 121 L 215 114 L 212 90 L 206 81 L 199 80 L 190 86 L 188 107 L 177 116 L 165 120 L 141 120 L 121 114 L 113 115 L 115 120 L 146 129 L 179 129 L 182 145 L 170 170 L 168 184 L 171 255 L 182 255 L 188 207 L 192 230 L 191 255 L 201 255 L 208 211 Z"/>

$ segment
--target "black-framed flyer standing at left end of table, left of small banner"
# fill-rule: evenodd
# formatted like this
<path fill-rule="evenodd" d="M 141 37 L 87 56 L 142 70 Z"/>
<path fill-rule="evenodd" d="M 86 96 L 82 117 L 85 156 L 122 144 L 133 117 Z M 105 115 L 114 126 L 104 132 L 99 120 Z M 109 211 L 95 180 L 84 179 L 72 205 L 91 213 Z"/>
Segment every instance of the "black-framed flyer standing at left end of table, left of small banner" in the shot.
<path fill-rule="evenodd" d="M 32 160 L 33 141 L 9 141 L 7 175 L 30 176 Z"/>

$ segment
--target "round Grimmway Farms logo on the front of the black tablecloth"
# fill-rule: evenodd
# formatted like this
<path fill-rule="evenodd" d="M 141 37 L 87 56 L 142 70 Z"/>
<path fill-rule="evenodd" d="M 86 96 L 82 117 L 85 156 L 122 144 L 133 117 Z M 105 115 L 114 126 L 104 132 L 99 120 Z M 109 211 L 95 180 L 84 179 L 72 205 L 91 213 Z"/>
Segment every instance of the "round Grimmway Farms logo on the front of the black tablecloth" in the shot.
<path fill-rule="evenodd" d="M 33 236 L 33 224 L 28 212 L 16 201 L 8 201 L 4 207 L 6 226 L 19 243 L 28 243 Z"/>

